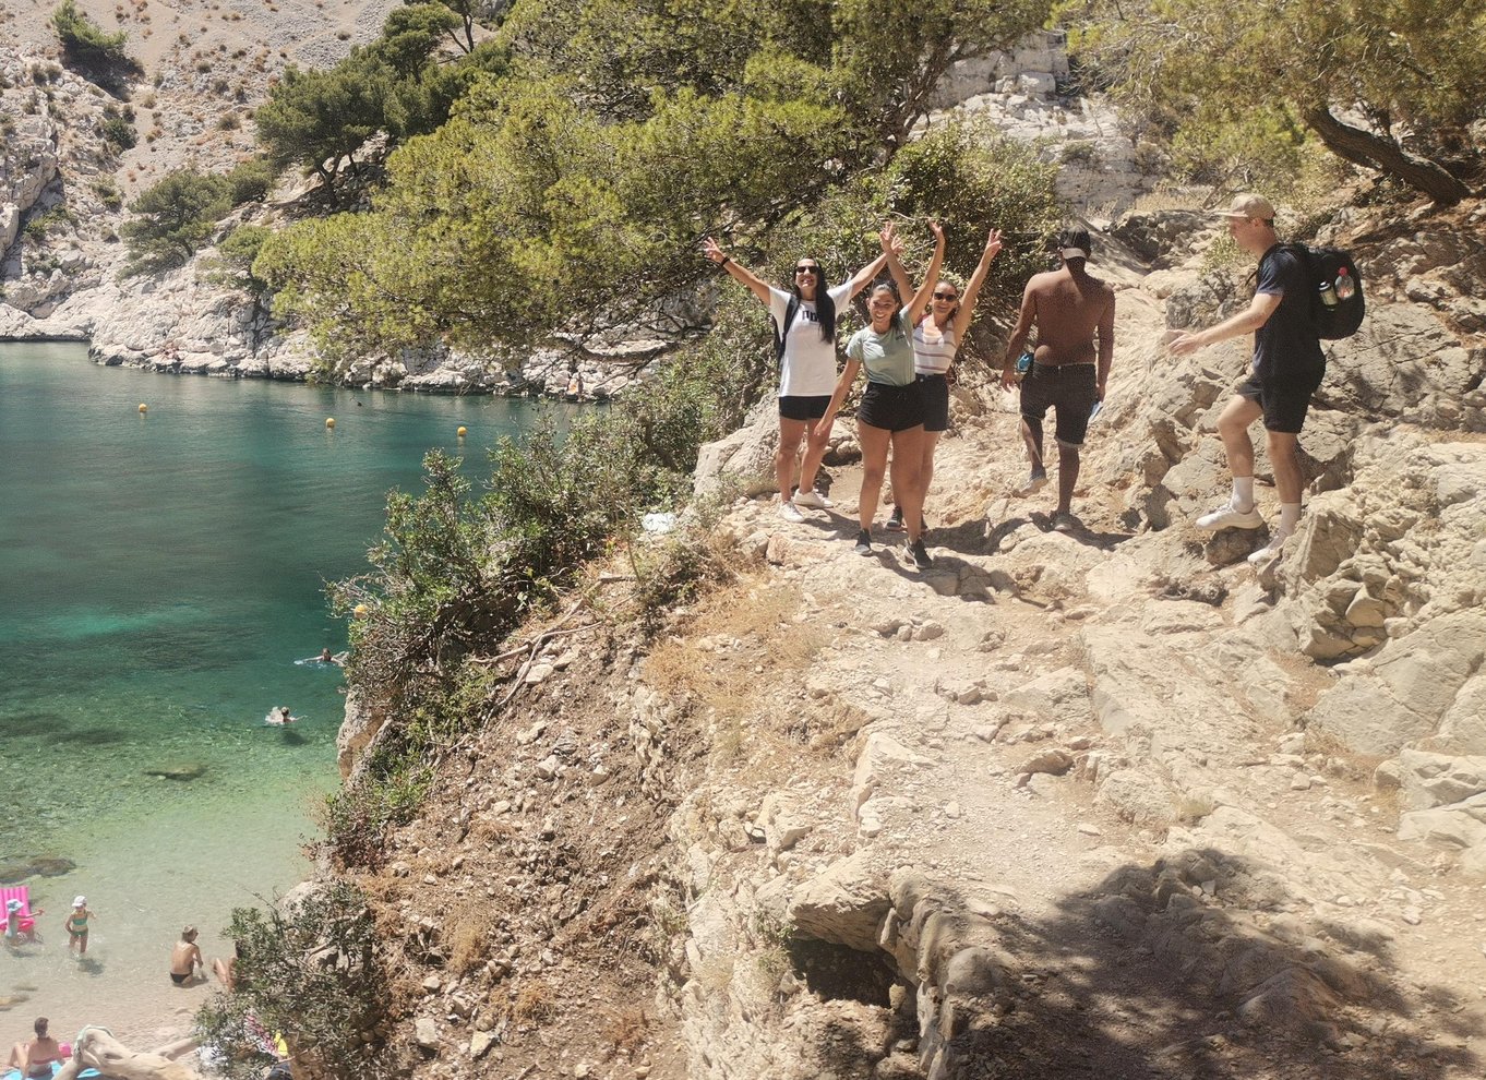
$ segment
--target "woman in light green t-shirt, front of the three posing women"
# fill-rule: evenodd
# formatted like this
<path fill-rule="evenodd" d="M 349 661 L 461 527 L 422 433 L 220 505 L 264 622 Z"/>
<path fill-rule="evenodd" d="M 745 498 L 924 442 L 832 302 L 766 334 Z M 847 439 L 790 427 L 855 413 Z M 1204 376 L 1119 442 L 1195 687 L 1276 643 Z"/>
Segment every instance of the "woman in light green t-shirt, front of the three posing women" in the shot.
<path fill-rule="evenodd" d="M 846 370 L 837 382 L 835 394 L 825 417 L 816 425 L 822 444 L 831 432 L 837 410 L 847 389 L 856 380 L 859 368 L 866 368 L 866 389 L 862 391 L 862 406 L 856 413 L 856 437 L 862 444 L 862 495 L 857 499 L 857 520 L 862 530 L 856 536 L 857 554 L 872 553 L 872 518 L 877 515 L 877 496 L 887 472 L 887 450 L 893 452 L 893 492 L 903 504 L 903 524 L 908 529 L 908 554 L 914 566 L 926 570 L 933 566 L 923 542 L 923 486 L 920 468 L 923 463 L 924 410 L 923 395 L 914 376 L 912 313 L 923 310 L 929 299 L 930 282 L 939 279 L 944 263 L 944 230 L 938 221 L 929 226 L 935 235 L 933 258 L 923 287 L 903 305 L 899 305 L 892 285 L 878 285 L 868 302 L 871 325 L 857 330 L 846 346 Z M 883 226 L 883 254 L 893 276 L 906 282 L 908 275 L 901 266 L 902 239 L 893 226 Z"/>

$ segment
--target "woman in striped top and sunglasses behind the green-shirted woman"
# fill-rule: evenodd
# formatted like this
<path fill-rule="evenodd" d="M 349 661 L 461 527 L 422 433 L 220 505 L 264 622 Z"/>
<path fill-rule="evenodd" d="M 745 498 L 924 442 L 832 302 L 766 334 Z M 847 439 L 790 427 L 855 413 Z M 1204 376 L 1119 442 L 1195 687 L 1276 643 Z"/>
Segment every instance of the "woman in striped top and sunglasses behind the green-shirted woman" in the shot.
<path fill-rule="evenodd" d="M 918 389 L 924 400 L 924 453 L 923 465 L 918 468 L 918 486 L 924 496 L 929 495 L 929 484 L 933 483 L 933 452 L 939 446 L 939 437 L 950 429 L 950 386 L 954 382 L 954 354 L 964 342 L 964 334 L 975 318 L 975 300 L 981 294 L 981 285 L 991 272 L 991 260 L 1002 250 L 1002 230 L 991 229 L 985 238 L 985 251 L 975 266 L 975 273 L 961 291 L 948 278 L 933 282 L 933 300 L 927 310 L 920 309 L 914 316 L 914 371 L 918 377 Z M 890 263 L 893 281 L 898 290 L 908 294 L 912 288 L 908 275 L 901 273 L 902 263 Z M 903 507 L 893 504 L 893 515 L 887 518 L 887 527 L 901 530 L 903 527 Z"/>

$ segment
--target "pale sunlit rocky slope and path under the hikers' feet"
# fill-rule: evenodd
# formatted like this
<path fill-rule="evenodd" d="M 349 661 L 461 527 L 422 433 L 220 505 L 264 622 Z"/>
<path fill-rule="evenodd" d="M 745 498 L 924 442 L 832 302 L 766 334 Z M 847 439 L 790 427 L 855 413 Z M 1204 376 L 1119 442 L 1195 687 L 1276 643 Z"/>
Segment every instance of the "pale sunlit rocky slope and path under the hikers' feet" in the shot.
<path fill-rule="evenodd" d="M 1480 1076 L 1486 206 L 1339 220 L 1370 316 L 1259 570 L 1263 536 L 1192 526 L 1245 348 L 1161 346 L 1239 296 L 1199 273 L 1210 221 L 1101 247 L 1119 346 L 1077 532 L 1008 495 L 1015 401 L 966 389 L 930 572 L 851 553 L 843 423 L 835 510 L 739 499 L 704 541 L 731 576 L 658 634 L 627 565 L 531 630 L 363 878 L 397 1070 Z M 764 490 L 771 428 L 704 471 Z"/>

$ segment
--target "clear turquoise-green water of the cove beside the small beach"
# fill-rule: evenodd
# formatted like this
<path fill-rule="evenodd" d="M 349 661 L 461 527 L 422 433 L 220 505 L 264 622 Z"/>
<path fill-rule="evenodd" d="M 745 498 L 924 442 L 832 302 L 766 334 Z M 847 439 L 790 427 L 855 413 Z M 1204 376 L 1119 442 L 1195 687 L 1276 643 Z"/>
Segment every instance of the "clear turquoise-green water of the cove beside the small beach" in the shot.
<path fill-rule="evenodd" d="M 28 998 L 0 1012 L 0 1043 L 36 1013 L 123 1035 L 198 1004 L 163 975 L 181 924 L 223 951 L 233 906 L 305 875 L 336 781 L 340 670 L 294 663 L 345 648 L 324 582 L 366 569 L 386 492 L 419 487 L 431 446 L 478 481 L 531 416 L 0 345 L 0 866 L 77 863 L 28 879 L 45 940 L 0 949 L 0 1009 Z M 303 720 L 265 726 L 276 704 Z M 180 764 L 204 771 L 147 775 Z M 61 930 L 77 893 L 97 912 L 86 964 Z"/>

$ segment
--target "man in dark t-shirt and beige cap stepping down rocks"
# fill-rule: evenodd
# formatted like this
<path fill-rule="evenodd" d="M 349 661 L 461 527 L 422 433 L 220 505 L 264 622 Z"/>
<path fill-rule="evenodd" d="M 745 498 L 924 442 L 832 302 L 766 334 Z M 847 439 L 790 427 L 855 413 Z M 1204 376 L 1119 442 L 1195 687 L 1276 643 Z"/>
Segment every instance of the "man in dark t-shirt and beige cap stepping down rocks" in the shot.
<path fill-rule="evenodd" d="M 1297 437 L 1305 423 L 1311 395 L 1326 374 L 1326 354 L 1311 318 L 1311 275 L 1275 236 L 1275 208 L 1259 195 L 1239 195 L 1229 209 L 1227 232 L 1239 248 L 1259 258 L 1254 299 L 1238 315 L 1216 327 L 1180 334 L 1171 351 L 1186 357 L 1198 349 L 1253 331 L 1254 362 L 1219 416 L 1217 431 L 1233 474 L 1233 493 L 1227 504 L 1198 518 L 1199 529 L 1259 529 L 1265 518 L 1254 504 L 1254 444 L 1248 425 L 1265 417 L 1269 463 L 1279 490 L 1279 527 L 1269 542 L 1248 557 L 1263 563 L 1300 521 L 1300 462 Z"/>

